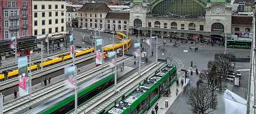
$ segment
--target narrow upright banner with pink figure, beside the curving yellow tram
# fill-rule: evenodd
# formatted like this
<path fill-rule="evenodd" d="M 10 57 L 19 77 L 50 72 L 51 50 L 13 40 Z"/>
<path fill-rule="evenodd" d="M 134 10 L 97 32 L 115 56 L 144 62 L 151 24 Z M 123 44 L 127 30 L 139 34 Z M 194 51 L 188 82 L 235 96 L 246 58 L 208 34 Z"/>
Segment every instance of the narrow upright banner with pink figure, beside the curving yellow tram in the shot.
<path fill-rule="evenodd" d="M 96 64 L 102 64 L 102 38 L 96 39 Z"/>

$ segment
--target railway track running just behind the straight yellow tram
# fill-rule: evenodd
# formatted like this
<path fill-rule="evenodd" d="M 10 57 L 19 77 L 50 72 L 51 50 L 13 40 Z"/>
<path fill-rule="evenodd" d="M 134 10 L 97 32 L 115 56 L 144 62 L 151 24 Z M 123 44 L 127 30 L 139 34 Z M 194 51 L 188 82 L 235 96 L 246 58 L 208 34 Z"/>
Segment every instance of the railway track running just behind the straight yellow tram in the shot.
<path fill-rule="evenodd" d="M 68 53 L 69 51 L 61 51 L 60 53 L 54 53 L 54 54 L 51 54 L 51 55 L 45 55 L 44 56 L 44 59 L 48 58 L 48 57 L 53 57 L 53 56 L 56 56 L 56 55 L 61 55 L 61 54 L 64 54 L 64 53 Z M 40 56 L 41 57 L 41 56 Z M 35 61 L 39 61 L 41 60 L 41 58 L 36 58 L 36 59 L 32 59 L 32 62 L 34 63 Z M 33 57 L 32 57 L 33 58 Z M 0 67 L 0 72 L 3 72 L 5 70 L 11 70 L 13 68 L 18 68 L 17 64 L 14 62 L 14 63 L 10 63 L 8 66 L 1 66 Z"/>

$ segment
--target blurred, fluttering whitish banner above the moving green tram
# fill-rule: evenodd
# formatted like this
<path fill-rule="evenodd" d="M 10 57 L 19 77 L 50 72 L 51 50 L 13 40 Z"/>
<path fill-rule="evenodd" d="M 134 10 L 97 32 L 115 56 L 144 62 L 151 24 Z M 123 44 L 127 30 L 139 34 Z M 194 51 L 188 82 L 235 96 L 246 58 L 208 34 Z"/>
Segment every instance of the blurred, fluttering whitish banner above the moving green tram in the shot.
<path fill-rule="evenodd" d="M 64 76 L 66 77 L 66 88 L 74 88 L 75 80 L 74 76 L 76 75 L 76 66 L 66 66 L 64 69 Z"/>

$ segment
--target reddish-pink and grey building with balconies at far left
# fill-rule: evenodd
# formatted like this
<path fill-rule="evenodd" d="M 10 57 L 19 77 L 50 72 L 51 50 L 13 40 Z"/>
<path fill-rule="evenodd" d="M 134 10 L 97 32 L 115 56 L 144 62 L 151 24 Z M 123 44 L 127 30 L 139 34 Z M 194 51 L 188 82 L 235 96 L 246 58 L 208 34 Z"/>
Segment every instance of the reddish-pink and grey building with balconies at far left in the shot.
<path fill-rule="evenodd" d="M 32 35 L 31 0 L 0 0 L 0 40 Z"/>

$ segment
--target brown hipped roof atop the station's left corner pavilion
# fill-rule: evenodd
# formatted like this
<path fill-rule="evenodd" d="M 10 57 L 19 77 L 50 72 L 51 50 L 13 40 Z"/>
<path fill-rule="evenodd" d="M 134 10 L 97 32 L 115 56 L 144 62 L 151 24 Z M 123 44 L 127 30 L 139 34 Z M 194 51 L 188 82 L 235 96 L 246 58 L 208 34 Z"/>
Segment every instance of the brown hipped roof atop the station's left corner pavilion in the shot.
<path fill-rule="evenodd" d="M 111 9 L 105 3 L 85 3 L 80 12 L 109 12 Z"/>

